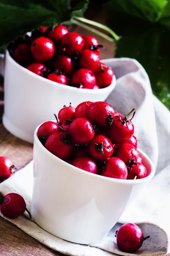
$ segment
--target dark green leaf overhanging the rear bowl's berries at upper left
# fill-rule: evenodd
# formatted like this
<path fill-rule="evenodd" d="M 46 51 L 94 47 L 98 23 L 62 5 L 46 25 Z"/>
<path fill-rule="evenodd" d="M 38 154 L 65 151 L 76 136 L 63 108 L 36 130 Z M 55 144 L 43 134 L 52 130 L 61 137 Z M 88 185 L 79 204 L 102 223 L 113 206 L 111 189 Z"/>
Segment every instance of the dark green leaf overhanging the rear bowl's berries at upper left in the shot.
<path fill-rule="evenodd" d="M 0 0 L 0 52 L 6 50 L 9 42 L 35 28 L 53 28 L 71 20 L 72 12 L 85 12 L 87 3 L 83 0 L 71 9 L 70 0 Z"/>

